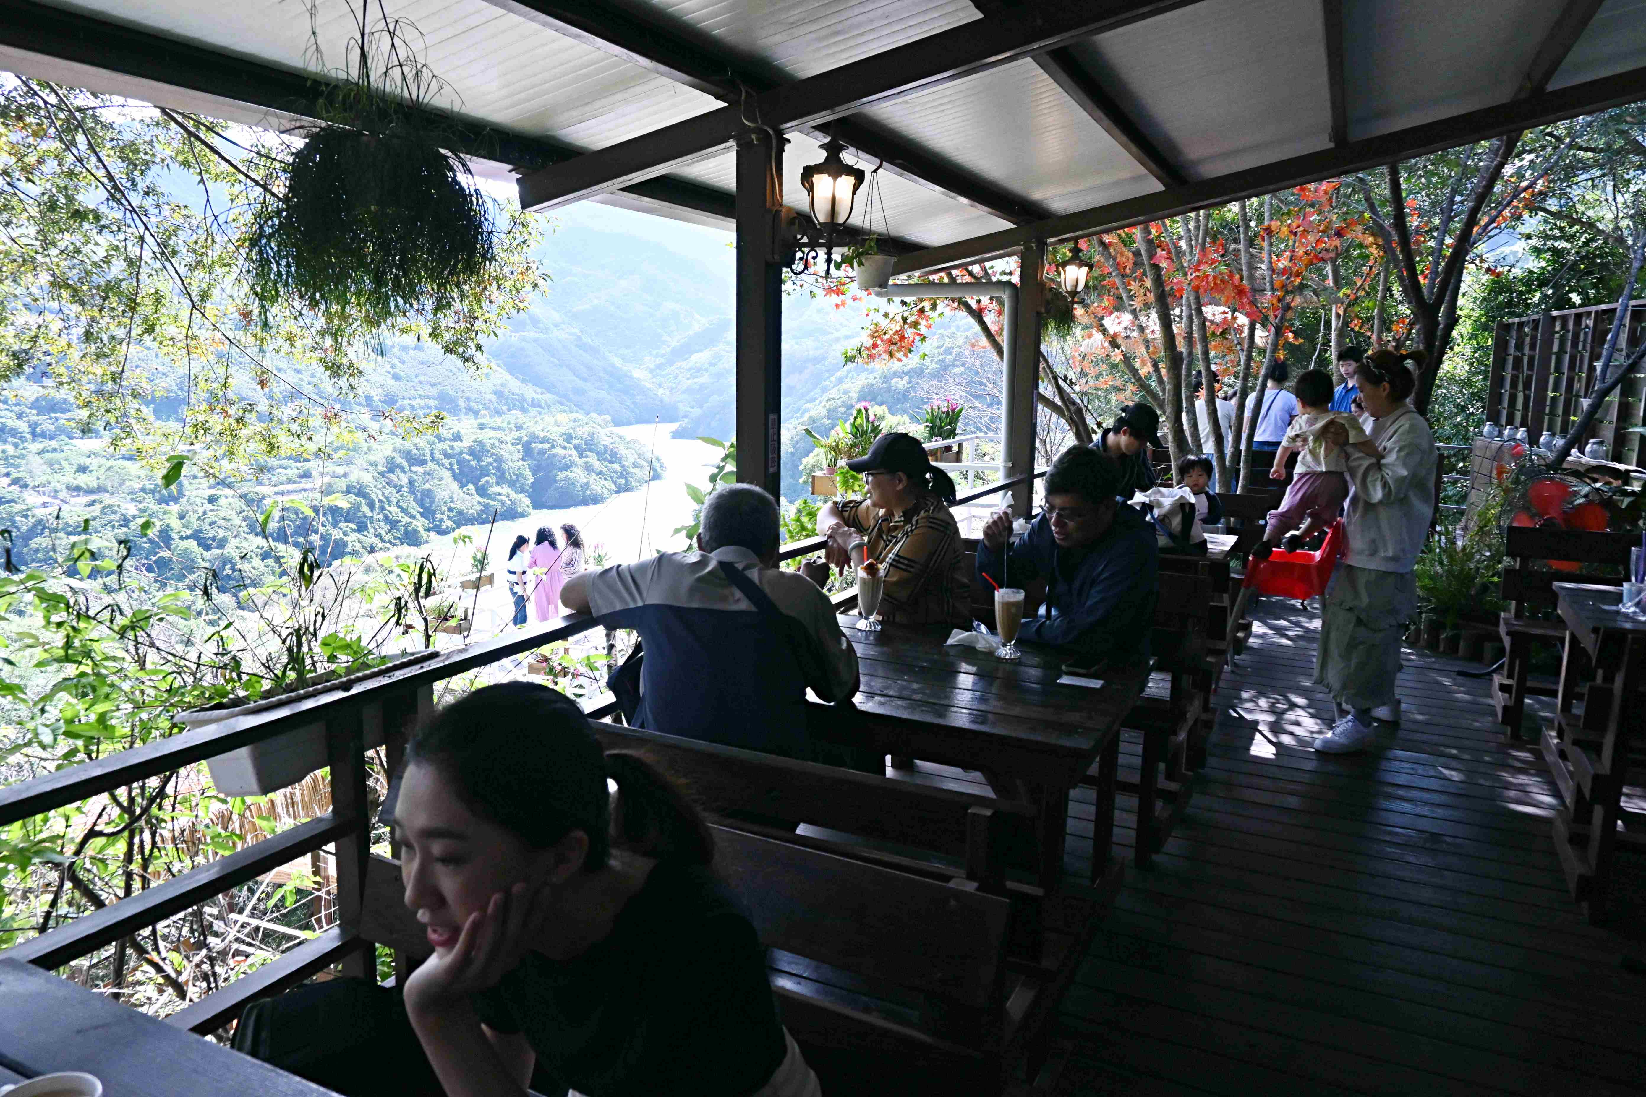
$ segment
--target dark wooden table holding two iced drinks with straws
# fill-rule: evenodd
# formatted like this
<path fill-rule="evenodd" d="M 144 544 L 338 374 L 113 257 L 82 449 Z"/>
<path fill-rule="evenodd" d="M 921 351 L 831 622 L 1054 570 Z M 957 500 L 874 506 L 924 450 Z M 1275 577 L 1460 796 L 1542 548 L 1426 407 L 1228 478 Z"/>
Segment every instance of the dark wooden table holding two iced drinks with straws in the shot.
<path fill-rule="evenodd" d="M 876 747 L 979 770 L 997 796 L 1032 804 L 1039 878 L 1049 893 L 1062 886 L 1068 793 L 1098 761 L 1091 882 L 1119 882 L 1111 855 L 1119 730 L 1149 681 L 1144 668 L 1104 673 L 1101 689 L 1060 686 L 1062 660 L 1037 645 L 1022 645 L 1024 658 L 1007 663 L 945 646 L 946 625 L 859 632 L 853 615 L 839 623 L 858 650 L 856 706 Z"/>

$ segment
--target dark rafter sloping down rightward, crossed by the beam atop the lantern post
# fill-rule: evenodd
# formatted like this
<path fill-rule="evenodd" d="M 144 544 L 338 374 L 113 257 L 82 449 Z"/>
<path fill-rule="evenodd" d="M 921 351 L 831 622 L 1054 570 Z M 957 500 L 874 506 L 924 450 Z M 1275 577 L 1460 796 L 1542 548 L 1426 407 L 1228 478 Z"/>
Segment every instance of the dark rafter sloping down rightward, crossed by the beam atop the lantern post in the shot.
<path fill-rule="evenodd" d="M 739 104 L 744 90 L 769 92 L 788 81 L 777 66 L 732 59 L 713 44 L 696 43 L 688 28 L 665 26 L 630 15 L 604 0 L 486 0 L 495 8 L 573 38 L 591 49 L 621 58 L 724 104 Z M 825 127 L 797 127 L 816 141 L 826 141 Z M 946 164 L 905 138 L 881 130 L 863 118 L 841 118 L 833 135 L 859 155 L 882 161 L 886 171 L 928 191 L 965 202 L 1014 225 L 1039 220 L 1047 211 L 1009 194 L 978 176 Z"/>

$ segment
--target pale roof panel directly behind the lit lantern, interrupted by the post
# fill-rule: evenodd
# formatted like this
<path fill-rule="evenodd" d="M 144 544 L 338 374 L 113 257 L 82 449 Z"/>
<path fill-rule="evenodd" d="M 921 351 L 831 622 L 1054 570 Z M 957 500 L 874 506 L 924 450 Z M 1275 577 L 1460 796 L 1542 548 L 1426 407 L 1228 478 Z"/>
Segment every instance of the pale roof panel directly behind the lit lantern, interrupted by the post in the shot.
<path fill-rule="evenodd" d="M 823 148 L 798 133 L 788 135 L 788 146 L 783 150 L 783 201 L 795 209 L 807 207 L 807 192 L 800 186 L 800 169 L 823 160 Z M 848 161 L 851 155 L 848 153 Z M 874 163 L 859 164 L 872 171 Z M 737 156 L 723 153 L 713 160 L 701 160 L 673 173 L 681 179 L 693 179 L 706 186 L 731 191 L 736 187 Z M 867 187 L 864 187 L 867 189 Z M 943 243 L 960 240 L 984 232 L 1006 229 L 1006 222 L 978 212 L 976 209 L 948 199 L 917 183 L 900 179 L 889 171 L 879 173 L 879 192 L 886 201 L 886 219 L 881 219 L 881 206 L 876 202 L 872 227 L 866 222 L 867 201 L 859 196 L 853 207 L 851 224 L 863 230 L 890 232 L 894 237 L 914 243 Z"/>

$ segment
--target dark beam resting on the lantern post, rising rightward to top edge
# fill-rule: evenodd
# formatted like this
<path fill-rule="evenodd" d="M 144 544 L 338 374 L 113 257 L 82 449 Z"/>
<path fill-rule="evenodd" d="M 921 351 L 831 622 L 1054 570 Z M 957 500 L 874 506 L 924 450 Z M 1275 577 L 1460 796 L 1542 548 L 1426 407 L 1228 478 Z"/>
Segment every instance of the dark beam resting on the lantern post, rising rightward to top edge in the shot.
<path fill-rule="evenodd" d="M 711 156 L 731 148 L 744 113 L 779 130 L 821 125 L 1192 3 L 1088 0 L 974 20 L 533 171 L 520 179 L 520 204 L 553 209 Z"/>

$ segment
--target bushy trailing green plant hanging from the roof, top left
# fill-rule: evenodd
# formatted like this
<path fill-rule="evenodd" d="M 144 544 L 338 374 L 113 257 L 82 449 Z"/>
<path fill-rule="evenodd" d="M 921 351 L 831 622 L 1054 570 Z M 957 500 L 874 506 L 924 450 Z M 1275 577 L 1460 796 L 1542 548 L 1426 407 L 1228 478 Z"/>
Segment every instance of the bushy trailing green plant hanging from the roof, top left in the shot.
<path fill-rule="evenodd" d="M 497 258 L 492 206 L 448 151 L 451 127 L 431 122 L 444 84 L 413 51 L 415 25 L 382 0 L 379 16 L 362 7 L 321 123 L 275 153 L 281 178 L 260 191 L 247 252 L 265 329 L 285 301 L 337 326 L 448 314 Z"/>

